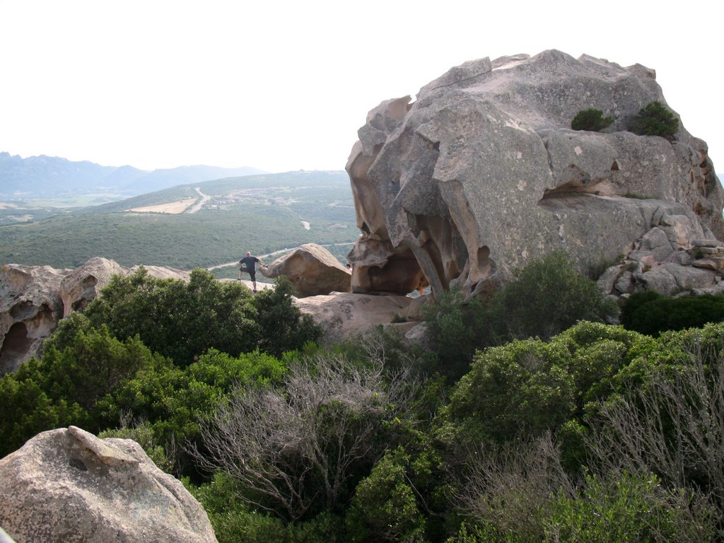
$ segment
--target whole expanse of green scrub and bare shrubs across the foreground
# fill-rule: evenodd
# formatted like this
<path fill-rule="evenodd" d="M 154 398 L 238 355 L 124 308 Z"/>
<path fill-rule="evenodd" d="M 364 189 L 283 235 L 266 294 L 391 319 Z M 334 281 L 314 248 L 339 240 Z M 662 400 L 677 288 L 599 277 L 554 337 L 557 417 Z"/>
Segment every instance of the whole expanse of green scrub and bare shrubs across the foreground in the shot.
<path fill-rule="evenodd" d="M 721 540 L 724 324 L 605 324 L 568 269 L 451 292 L 420 352 L 322 347 L 285 281 L 114 279 L 0 379 L 0 454 L 69 424 L 137 439 L 222 543 Z"/>

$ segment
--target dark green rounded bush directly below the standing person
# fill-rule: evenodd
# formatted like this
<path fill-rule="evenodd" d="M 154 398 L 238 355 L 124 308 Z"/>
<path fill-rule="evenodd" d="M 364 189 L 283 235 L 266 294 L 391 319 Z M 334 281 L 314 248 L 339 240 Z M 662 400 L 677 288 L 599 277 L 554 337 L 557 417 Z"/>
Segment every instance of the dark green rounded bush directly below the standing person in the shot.
<path fill-rule="evenodd" d="M 320 330 L 292 306 L 288 281 L 256 297 L 237 282 L 219 282 L 195 269 L 190 281 L 156 279 L 145 269 L 115 276 L 85 309 L 119 338 L 136 334 L 177 366 L 188 366 L 209 348 L 232 356 L 261 348 L 281 355 L 314 341 Z"/>

